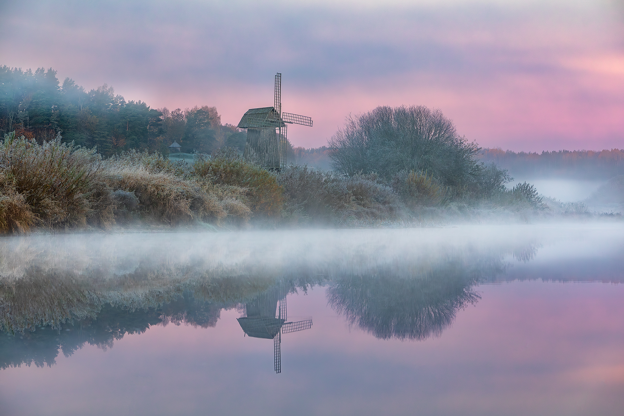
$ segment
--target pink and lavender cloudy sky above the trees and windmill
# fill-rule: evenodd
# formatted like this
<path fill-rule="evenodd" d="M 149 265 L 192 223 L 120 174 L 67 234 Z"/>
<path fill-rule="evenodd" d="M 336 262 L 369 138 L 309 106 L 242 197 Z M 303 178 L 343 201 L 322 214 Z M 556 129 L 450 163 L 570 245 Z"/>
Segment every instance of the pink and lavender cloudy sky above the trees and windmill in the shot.
<path fill-rule="evenodd" d="M 442 109 L 515 151 L 624 147 L 624 13 L 615 1 L 28 2 L 0 5 L 0 64 L 52 67 L 152 107 L 273 103 L 322 146 L 349 113 Z"/>

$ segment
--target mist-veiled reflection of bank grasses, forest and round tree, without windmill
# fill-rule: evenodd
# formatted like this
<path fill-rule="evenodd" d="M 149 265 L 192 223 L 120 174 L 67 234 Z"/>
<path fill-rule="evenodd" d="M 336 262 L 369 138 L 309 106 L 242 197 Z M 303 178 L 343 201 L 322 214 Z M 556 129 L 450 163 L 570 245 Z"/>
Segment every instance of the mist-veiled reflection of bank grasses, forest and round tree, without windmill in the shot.
<path fill-rule="evenodd" d="M 354 239 L 368 234 L 349 233 L 349 243 L 336 239 L 325 252 L 303 256 L 293 252 L 314 244 L 313 234 L 300 246 L 285 243 L 284 256 L 268 255 L 265 240 L 240 247 L 238 239 L 229 250 L 213 234 L 170 234 L 165 244 L 136 235 L 132 249 L 114 236 L 2 240 L 0 367 L 51 365 L 59 349 L 71 355 L 85 343 L 112 347 L 151 325 L 213 327 L 222 309 L 240 310 L 277 285 L 291 293 L 325 285 L 329 305 L 349 324 L 379 339 L 424 340 L 478 302 L 475 285 L 504 280 L 514 269 L 509 262 L 531 262 L 542 244 L 533 235 L 485 245 L 447 237 L 407 243 L 392 231 L 371 245 Z"/>

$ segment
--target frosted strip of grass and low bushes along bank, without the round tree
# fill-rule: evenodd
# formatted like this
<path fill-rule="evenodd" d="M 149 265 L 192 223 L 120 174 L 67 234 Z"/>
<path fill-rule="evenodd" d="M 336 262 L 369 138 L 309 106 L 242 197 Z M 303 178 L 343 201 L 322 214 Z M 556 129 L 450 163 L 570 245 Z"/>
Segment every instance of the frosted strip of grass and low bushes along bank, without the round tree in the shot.
<path fill-rule="evenodd" d="M 346 176 L 306 166 L 266 171 L 223 148 L 172 161 L 134 150 L 109 159 L 62 142 L 9 134 L 0 142 L 0 234 L 177 227 L 422 227 L 452 222 L 587 219 L 580 203 L 540 196 L 495 166 L 463 185 L 422 171 Z"/>

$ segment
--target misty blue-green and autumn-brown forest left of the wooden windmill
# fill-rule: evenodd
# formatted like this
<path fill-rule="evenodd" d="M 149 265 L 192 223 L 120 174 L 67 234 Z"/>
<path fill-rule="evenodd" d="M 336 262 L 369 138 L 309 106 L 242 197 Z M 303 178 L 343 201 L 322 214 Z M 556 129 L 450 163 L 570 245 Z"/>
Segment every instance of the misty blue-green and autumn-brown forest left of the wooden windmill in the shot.
<path fill-rule="evenodd" d="M 86 91 L 67 77 L 62 84 L 52 68 L 22 71 L 0 67 L 0 134 L 37 141 L 60 132 L 66 142 L 97 146 L 105 156 L 128 149 L 167 153 L 175 140 L 182 152 L 210 152 L 222 146 L 244 147 L 245 132 L 221 125 L 215 107 L 152 109 L 125 101 L 104 84 Z"/>

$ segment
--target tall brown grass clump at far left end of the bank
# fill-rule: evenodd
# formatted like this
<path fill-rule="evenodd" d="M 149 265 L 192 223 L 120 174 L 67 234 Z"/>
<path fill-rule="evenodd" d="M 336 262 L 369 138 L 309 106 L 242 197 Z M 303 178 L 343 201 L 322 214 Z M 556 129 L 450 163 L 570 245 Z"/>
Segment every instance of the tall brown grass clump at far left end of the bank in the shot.
<path fill-rule="evenodd" d="M 85 225 L 102 175 L 100 156 L 56 139 L 38 144 L 15 133 L 0 142 L 0 231 Z"/>

